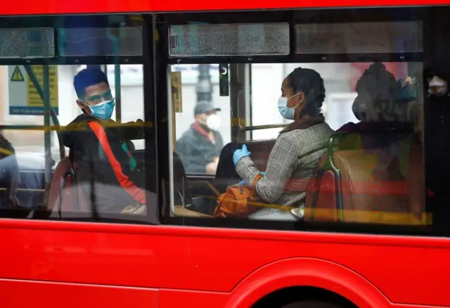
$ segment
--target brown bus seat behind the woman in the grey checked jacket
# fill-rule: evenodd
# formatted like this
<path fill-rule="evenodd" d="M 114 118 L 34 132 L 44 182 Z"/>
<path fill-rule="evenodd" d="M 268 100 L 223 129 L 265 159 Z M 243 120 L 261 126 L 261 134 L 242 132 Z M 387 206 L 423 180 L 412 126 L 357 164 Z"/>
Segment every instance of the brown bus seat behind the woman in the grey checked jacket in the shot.
<path fill-rule="evenodd" d="M 342 137 L 345 135 L 341 134 L 340 138 Z M 397 136 L 394 137 L 397 138 Z M 401 139 L 397 138 L 397 140 Z M 333 152 L 331 158 L 333 166 L 324 168 L 330 155 L 328 151 L 319 163 L 316 177 L 307 187 L 305 219 L 384 224 L 417 222 L 413 214 L 416 213 L 418 217 L 419 213 L 423 212 L 421 209 L 423 202 L 416 202 L 413 209 L 411 198 L 413 198 L 412 194 L 416 193 L 413 186 L 423 185 L 423 177 L 413 176 L 413 174 L 420 174 L 420 170 L 423 169 L 420 161 L 421 150 L 412 146 L 410 139 L 403 140 L 401 141 L 403 147 L 406 146 L 406 152 L 409 153 L 401 159 L 408 169 L 404 173 L 396 174 L 392 172 L 392 169 L 391 172 L 376 170 L 375 167 L 381 155 L 376 148 L 349 150 L 348 146 L 345 146 L 345 150 Z M 423 191 L 423 188 L 417 189 Z M 423 200 L 420 195 L 414 198 Z"/>

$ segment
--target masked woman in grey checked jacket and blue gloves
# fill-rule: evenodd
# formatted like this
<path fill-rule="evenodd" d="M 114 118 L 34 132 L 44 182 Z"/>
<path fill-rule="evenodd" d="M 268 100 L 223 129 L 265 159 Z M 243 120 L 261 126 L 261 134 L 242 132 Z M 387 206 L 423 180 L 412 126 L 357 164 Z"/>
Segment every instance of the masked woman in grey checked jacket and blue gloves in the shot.
<path fill-rule="evenodd" d="M 236 172 L 246 183 L 255 186 L 260 199 L 295 207 L 290 212 L 263 208 L 250 214 L 250 219 L 297 220 L 303 217 L 306 186 L 334 132 L 320 113 L 324 98 L 321 75 L 315 70 L 296 68 L 283 80 L 278 99 L 280 114 L 294 122 L 280 132 L 266 171 L 261 173 L 257 169 L 245 145 L 233 154 Z"/>

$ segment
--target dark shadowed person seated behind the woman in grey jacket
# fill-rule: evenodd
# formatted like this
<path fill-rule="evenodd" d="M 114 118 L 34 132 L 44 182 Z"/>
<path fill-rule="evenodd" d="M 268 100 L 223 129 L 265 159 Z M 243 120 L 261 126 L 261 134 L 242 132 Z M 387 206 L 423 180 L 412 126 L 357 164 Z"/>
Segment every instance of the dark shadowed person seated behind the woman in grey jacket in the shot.
<path fill-rule="evenodd" d="M 408 184 L 408 194 L 368 193 L 366 208 L 413 213 L 420 219 L 425 188 L 416 84 L 413 77 L 397 80 L 385 65 L 373 63 L 356 83 L 352 110 L 360 122 L 349 122 L 338 132 L 352 133 L 340 139 L 340 150 L 362 149 L 366 158 L 376 158 L 373 169 L 367 165 L 364 172 L 380 191 L 392 183 Z"/>

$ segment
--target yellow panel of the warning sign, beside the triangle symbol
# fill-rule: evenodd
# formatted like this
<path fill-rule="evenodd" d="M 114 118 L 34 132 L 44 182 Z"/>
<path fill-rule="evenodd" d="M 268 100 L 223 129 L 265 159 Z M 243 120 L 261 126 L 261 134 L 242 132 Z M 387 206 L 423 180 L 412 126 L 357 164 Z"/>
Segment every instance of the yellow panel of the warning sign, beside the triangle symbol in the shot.
<path fill-rule="evenodd" d="M 32 70 L 41 85 L 41 89 L 44 89 L 42 82 L 42 65 L 32 65 Z M 27 106 L 44 108 L 44 102 L 30 78 L 27 78 L 27 90 Z M 49 90 L 50 105 L 58 107 L 58 68 L 56 65 L 49 65 Z"/>

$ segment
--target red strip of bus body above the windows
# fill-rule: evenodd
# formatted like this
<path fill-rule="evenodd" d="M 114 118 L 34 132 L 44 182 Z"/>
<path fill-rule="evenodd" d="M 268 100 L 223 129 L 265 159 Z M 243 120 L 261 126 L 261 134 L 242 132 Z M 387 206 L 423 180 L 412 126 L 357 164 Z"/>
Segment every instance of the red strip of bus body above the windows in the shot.
<path fill-rule="evenodd" d="M 143 13 L 169 11 L 232 11 L 269 8 L 334 8 L 358 6 L 424 6 L 447 4 L 442 0 L 230 0 L 230 1 L 154 1 L 154 0 L 41 0 L 3 1 L 0 15 L 38 15 L 69 13 Z"/>

